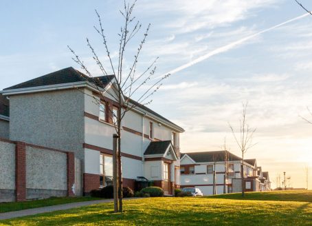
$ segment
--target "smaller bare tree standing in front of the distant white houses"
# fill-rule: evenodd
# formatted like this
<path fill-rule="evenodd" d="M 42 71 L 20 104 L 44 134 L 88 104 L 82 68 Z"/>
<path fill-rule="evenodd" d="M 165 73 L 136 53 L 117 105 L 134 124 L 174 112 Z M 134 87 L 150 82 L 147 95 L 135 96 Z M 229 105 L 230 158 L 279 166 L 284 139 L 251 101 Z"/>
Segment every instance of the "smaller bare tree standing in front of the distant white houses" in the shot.
<path fill-rule="evenodd" d="M 240 131 L 239 136 L 236 136 L 236 132 L 232 125 L 229 123 L 229 127 L 232 131 L 232 134 L 235 138 L 235 141 L 241 150 L 242 153 L 242 165 L 241 165 L 241 180 L 242 180 L 242 196 L 245 196 L 245 183 L 244 183 L 244 156 L 251 147 L 256 145 L 256 143 L 252 142 L 252 138 L 254 136 L 254 132 L 256 132 L 256 128 L 251 128 L 247 124 L 246 112 L 247 112 L 248 102 L 243 103 L 243 112 L 242 118 L 240 120 Z"/>

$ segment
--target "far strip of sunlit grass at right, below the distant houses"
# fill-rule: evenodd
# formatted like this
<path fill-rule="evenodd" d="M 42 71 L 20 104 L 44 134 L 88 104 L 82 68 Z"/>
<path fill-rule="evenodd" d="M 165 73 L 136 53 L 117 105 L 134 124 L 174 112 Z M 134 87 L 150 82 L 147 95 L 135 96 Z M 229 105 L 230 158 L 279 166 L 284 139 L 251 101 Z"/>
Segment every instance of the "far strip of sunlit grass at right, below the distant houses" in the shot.
<path fill-rule="evenodd" d="M 312 190 L 302 191 L 274 191 L 274 192 L 246 192 L 242 197 L 241 193 L 220 194 L 207 196 L 207 198 L 227 198 L 238 200 L 263 200 L 263 201 L 298 201 L 312 202 Z"/>

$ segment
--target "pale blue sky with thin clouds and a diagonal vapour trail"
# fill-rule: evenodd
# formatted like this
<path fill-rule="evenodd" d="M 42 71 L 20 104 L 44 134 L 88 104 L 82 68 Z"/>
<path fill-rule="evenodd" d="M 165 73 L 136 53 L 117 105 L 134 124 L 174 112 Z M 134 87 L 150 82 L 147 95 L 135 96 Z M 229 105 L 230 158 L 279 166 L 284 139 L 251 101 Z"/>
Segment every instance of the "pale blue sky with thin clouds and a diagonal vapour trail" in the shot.
<path fill-rule="evenodd" d="M 312 10 L 311 1 L 301 2 Z M 94 10 L 115 62 L 122 6 L 112 0 L 0 1 L 0 90 L 69 66 L 79 70 L 67 45 L 100 76 L 86 45 L 89 38 L 107 65 Z M 302 16 L 306 12 L 291 0 L 138 0 L 133 14 L 142 32 L 129 43 L 124 70 L 151 23 L 137 71 L 159 56 L 155 77 L 172 72 L 148 107 L 186 130 L 181 152 L 221 150 L 226 138 L 240 156 L 229 123 L 239 130 L 248 101 L 256 145 L 246 158 L 269 171 L 273 187 L 282 172 L 291 177 L 287 185 L 306 187 L 308 166 L 312 189 L 312 125 L 299 116 L 312 120 L 311 15 Z"/>

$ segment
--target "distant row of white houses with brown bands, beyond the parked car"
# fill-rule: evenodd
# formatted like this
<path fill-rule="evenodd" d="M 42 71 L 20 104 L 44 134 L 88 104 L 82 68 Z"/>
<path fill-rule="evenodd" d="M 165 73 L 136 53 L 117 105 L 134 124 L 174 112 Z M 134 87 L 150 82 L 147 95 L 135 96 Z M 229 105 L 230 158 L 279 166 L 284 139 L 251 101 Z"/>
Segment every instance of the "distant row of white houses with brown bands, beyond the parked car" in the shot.
<path fill-rule="evenodd" d="M 242 158 L 226 150 L 183 153 L 180 160 L 181 187 L 197 187 L 204 195 L 241 192 L 241 165 Z M 245 159 L 245 191 L 261 191 L 260 178 L 264 177 L 258 175 L 256 159 Z"/>

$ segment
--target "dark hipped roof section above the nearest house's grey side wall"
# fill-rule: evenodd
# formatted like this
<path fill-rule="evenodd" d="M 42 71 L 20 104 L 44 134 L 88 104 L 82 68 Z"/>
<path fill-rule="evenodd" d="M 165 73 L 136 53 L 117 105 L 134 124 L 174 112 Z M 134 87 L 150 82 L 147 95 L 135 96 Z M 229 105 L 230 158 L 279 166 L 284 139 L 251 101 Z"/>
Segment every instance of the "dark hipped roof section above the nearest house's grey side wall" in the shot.
<path fill-rule="evenodd" d="M 62 70 L 58 70 L 56 72 L 52 72 L 49 74 L 45 74 L 43 76 L 40 76 L 36 79 L 32 79 L 29 81 L 25 81 L 23 83 L 19 83 L 17 85 L 13 85 L 9 88 L 5 88 L 3 90 L 13 90 L 13 89 L 21 89 L 21 88 L 32 88 L 37 86 L 43 86 L 43 85 L 57 85 L 57 84 L 64 84 L 64 83 L 75 83 L 78 81 L 89 81 L 91 83 L 94 83 L 94 79 L 96 81 L 99 81 L 96 85 L 107 85 L 112 79 L 114 78 L 114 75 L 108 75 L 108 76 L 98 76 L 91 79 L 89 76 L 83 74 L 82 72 L 79 72 L 78 70 L 75 70 L 72 67 L 64 68 Z"/>

